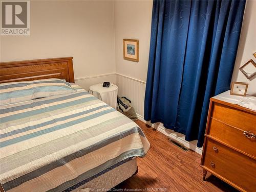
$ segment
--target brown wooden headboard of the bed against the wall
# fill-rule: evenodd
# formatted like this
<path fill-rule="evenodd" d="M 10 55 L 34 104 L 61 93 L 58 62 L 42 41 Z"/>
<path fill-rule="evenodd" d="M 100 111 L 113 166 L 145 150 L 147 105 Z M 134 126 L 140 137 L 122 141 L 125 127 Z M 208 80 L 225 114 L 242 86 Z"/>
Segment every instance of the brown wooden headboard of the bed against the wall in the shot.
<path fill-rule="evenodd" d="M 58 78 L 75 82 L 73 57 L 0 63 L 0 83 Z"/>

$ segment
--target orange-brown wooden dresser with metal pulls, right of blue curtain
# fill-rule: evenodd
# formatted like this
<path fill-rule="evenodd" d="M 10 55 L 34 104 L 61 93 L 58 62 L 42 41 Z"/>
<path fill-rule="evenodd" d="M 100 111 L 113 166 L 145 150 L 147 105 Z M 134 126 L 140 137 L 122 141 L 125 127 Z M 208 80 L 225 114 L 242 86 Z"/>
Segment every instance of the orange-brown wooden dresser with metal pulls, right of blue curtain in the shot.
<path fill-rule="evenodd" d="M 210 99 L 201 166 L 241 191 L 256 191 L 256 111 Z"/>

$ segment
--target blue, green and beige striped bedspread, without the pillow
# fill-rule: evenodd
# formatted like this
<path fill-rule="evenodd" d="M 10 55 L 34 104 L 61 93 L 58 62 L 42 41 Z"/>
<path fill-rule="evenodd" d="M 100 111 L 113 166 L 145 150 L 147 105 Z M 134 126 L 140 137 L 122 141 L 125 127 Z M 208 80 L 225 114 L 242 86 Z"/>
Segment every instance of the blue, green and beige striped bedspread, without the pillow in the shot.
<path fill-rule="evenodd" d="M 79 86 L 1 106 L 0 182 L 6 191 L 62 191 L 150 145 L 141 129 Z"/>

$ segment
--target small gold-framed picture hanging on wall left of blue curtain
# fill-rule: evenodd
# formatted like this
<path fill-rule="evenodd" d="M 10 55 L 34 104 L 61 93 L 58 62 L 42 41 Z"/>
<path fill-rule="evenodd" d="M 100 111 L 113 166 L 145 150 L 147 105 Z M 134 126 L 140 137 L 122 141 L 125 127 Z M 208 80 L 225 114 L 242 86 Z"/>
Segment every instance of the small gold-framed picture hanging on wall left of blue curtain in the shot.
<path fill-rule="evenodd" d="M 123 59 L 139 62 L 138 39 L 123 39 Z"/>

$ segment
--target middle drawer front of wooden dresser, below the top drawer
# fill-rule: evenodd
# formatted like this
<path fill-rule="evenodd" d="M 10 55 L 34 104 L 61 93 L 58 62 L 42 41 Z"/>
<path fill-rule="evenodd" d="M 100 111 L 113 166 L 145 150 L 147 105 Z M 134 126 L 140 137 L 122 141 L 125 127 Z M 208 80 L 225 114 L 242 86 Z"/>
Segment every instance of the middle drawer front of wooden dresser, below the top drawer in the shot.
<path fill-rule="evenodd" d="M 244 130 L 231 127 L 211 118 L 208 134 L 256 158 L 256 138 L 247 138 Z"/>

